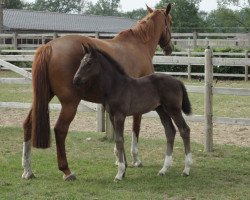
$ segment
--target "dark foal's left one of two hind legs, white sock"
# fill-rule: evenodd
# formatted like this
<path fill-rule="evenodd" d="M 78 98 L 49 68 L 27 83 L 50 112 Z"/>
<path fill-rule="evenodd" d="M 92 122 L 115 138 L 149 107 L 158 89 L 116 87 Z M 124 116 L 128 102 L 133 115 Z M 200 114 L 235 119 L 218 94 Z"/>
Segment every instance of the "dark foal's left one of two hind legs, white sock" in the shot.
<path fill-rule="evenodd" d="M 156 112 L 160 116 L 161 123 L 164 126 L 165 134 L 167 137 L 166 157 L 165 157 L 164 165 L 158 173 L 158 175 L 162 176 L 167 172 L 167 170 L 171 167 L 173 163 L 173 147 L 174 147 L 174 139 L 176 135 L 176 130 L 172 123 L 171 118 L 161 106 L 156 108 Z"/>

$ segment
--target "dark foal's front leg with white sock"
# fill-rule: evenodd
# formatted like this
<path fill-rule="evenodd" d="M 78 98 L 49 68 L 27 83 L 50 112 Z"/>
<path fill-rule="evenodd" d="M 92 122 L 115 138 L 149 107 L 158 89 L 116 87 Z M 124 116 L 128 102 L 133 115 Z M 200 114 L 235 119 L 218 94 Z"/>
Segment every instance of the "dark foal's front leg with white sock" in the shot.
<path fill-rule="evenodd" d="M 124 121 L 123 115 L 114 116 L 114 129 L 115 129 L 115 144 L 118 156 L 118 172 L 115 176 L 115 181 L 121 181 L 125 176 L 127 160 L 124 150 Z"/>

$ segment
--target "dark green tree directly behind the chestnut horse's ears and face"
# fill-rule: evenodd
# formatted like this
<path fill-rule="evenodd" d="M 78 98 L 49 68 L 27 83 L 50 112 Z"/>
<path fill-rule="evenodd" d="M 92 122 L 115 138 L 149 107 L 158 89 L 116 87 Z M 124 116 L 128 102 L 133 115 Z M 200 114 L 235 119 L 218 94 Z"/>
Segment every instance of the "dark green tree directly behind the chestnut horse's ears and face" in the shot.
<path fill-rule="evenodd" d="M 156 7 L 165 8 L 169 0 L 161 0 Z M 172 0 L 173 6 L 170 14 L 173 21 L 174 32 L 192 32 L 204 26 L 199 15 L 198 4 L 200 0 Z"/>

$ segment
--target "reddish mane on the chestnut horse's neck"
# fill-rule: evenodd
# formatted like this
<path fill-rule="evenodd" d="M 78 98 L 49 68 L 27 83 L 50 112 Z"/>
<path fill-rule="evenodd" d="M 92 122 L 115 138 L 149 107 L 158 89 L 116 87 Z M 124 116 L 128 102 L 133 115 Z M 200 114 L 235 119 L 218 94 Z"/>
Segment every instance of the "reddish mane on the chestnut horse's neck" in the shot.
<path fill-rule="evenodd" d="M 137 24 L 128 30 L 122 31 L 119 35 L 129 35 L 134 34 L 139 38 L 143 43 L 148 42 L 152 37 L 154 37 L 154 20 L 153 18 L 158 15 L 160 11 L 155 10 L 152 13 L 149 13 L 143 19 L 137 22 Z"/>

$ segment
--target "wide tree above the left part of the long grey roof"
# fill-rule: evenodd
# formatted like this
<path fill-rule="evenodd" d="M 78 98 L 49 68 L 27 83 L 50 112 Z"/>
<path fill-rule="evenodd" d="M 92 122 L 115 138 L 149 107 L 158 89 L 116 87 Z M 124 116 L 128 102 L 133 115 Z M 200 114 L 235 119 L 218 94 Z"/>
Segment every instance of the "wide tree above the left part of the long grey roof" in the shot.
<path fill-rule="evenodd" d="M 79 13 L 85 1 L 82 0 L 36 0 L 29 4 L 28 8 L 39 11 L 60 12 L 60 13 Z"/>

